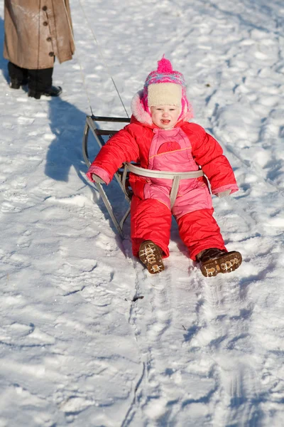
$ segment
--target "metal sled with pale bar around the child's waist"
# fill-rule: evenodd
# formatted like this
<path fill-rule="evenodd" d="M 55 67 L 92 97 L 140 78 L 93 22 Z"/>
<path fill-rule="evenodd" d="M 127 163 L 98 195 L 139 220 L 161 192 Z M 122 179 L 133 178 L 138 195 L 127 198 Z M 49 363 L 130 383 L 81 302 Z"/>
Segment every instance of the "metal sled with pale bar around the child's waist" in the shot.
<path fill-rule="evenodd" d="M 86 117 L 86 123 L 84 126 L 84 135 L 83 135 L 83 142 L 82 142 L 82 149 L 83 149 L 83 156 L 84 161 L 87 164 L 87 167 L 90 166 L 91 162 L 89 160 L 88 155 L 88 136 L 89 136 L 89 130 L 91 130 L 92 134 L 94 135 L 94 138 L 96 139 L 97 143 L 99 144 L 99 147 L 102 148 L 102 146 L 105 144 L 105 141 L 103 137 L 112 137 L 113 135 L 118 132 L 117 130 L 102 130 L 98 127 L 97 123 L 100 122 L 116 122 L 116 123 L 129 123 L 129 118 L 122 118 L 122 117 L 99 117 L 99 116 L 90 116 L 88 115 Z M 123 166 L 114 174 L 114 177 L 116 178 L 116 181 L 119 183 L 119 186 L 121 187 L 121 191 L 124 192 L 124 196 L 127 201 L 131 201 L 132 191 L 129 186 L 128 176 L 129 172 L 146 176 L 148 178 L 165 178 L 165 179 L 173 179 L 173 186 L 170 191 L 170 205 L 173 206 L 175 203 L 175 199 L 178 194 L 178 187 L 180 185 L 181 179 L 189 179 L 189 178 L 198 178 L 199 176 L 203 176 L 202 169 L 198 171 L 192 171 L 192 172 L 165 172 L 165 171 L 153 171 L 150 169 L 143 169 L 142 167 L 138 167 L 135 164 L 126 162 L 123 164 Z M 107 211 L 109 212 L 109 216 L 111 217 L 111 221 L 114 223 L 114 226 L 116 227 L 116 230 L 119 232 L 120 236 L 124 238 L 124 231 L 123 226 L 124 222 L 126 221 L 126 218 L 129 216 L 130 212 L 130 206 L 129 209 L 126 210 L 125 214 L 122 216 L 121 220 L 119 221 L 115 214 L 114 210 L 112 209 L 111 204 L 109 203 L 109 199 L 107 198 L 107 194 L 105 193 L 102 184 L 98 184 L 97 182 L 94 183 L 97 190 L 99 191 L 99 194 L 102 197 L 102 201 L 104 202 L 104 205 L 107 208 Z"/>

